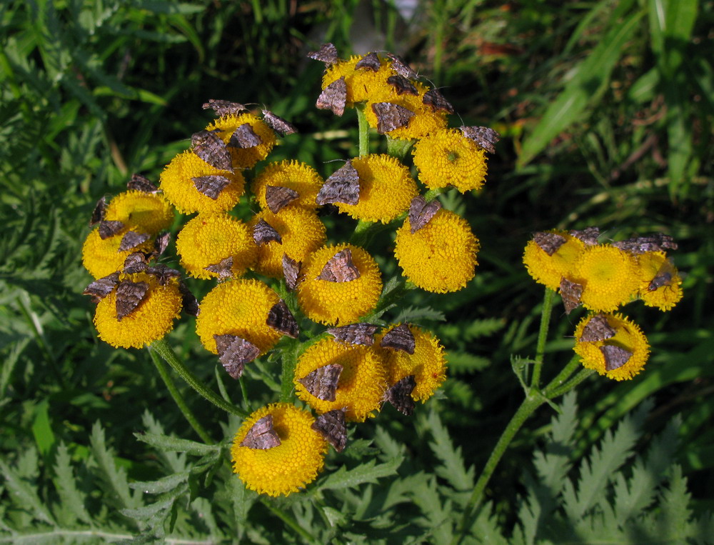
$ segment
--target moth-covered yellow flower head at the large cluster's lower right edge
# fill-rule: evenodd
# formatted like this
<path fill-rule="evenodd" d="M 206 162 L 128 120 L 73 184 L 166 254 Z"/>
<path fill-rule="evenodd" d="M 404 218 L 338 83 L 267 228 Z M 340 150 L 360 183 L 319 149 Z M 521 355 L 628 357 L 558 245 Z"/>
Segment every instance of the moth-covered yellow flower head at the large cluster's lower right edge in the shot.
<path fill-rule="evenodd" d="M 379 346 L 383 336 L 391 329 L 383 331 L 374 338 L 374 346 Z M 409 326 L 414 336 L 414 354 L 403 350 L 379 348 L 388 370 L 388 384 L 393 386 L 406 376 L 414 375 L 416 387 L 411 392 L 414 401 L 424 403 L 433 396 L 434 391 L 446 380 L 446 359 L 439 339 L 417 326 Z"/>

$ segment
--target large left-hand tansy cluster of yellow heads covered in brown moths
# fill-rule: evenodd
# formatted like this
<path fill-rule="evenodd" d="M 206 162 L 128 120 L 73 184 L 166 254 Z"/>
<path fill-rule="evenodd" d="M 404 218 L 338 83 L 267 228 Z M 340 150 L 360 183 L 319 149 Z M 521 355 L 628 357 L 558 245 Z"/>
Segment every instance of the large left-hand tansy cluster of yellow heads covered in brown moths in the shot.
<path fill-rule="evenodd" d="M 348 158 L 327 179 L 300 161 L 271 161 L 278 139 L 296 127 L 266 109 L 211 100 L 203 109 L 216 119 L 191 135 L 158 187 L 135 175 L 125 194 L 100 201 L 83 251 L 96 279 L 85 291 L 97 301 L 94 324 L 112 346 L 159 341 L 183 308 L 233 379 L 246 369 L 253 376 L 254 359 L 289 350 L 293 372 L 276 369 L 276 378 L 293 377 L 294 401 L 306 409 L 263 406 L 231 450 L 246 487 L 271 496 L 316 479 L 328 444 L 345 448 L 346 423 L 376 416 L 387 402 L 411 414 L 446 380 L 440 341 L 378 318 L 378 262 L 359 244 L 328 242 L 322 217 L 341 213 L 362 230 L 394 224 L 406 288 L 458 291 L 475 274 L 478 239 L 434 197 L 480 189 L 486 152 L 498 141 L 486 127 L 448 129 L 453 106 L 396 56 L 341 60 L 331 44 L 309 56 L 326 64 L 316 106 L 339 116 L 355 107 L 378 134 L 413 144 L 416 177 L 390 154 Z M 154 262 L 170 246 L 160 233 L 174 209 L 191 216 L 176 238 L 183 272 Z M 184 274 L 211 282 L 200 303 Z"/>

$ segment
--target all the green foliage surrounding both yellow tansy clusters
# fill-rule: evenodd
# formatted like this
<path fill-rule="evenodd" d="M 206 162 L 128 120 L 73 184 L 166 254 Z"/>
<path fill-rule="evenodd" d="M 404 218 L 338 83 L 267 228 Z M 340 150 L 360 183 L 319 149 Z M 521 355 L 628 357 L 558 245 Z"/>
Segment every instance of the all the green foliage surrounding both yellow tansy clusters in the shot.
<path fill-rule="evenodd" d="M 474 476 L 523 399 L 511 356 L 535 352 L 542 290 L 523 269 L 523 246 L 533 231 L 590 225 L 609 239 L 673 235 L 685 298 L 664 314 L 626 308 L 652 344 L 643 374 L 581 385 L 580 409 L 571 403 L 561 416 L 571 419 L 564 439 L 554 439 L 554 413 L 543 406 L 498 466 L 487 490 L 491 504 L 469 539 L 531 542 L 523 536 L 537 534 L 533 498 L 545 497 L 537 453 L 553 451 L 555 441 L 568 444 L 565 469 L 556 474 L 576 482 L 583 456 L 593 456 L 600 440 L 605 445 L 618 420 L 645 399 L 651 409 L 637 413 L 640 431 L 629 443 L 622 439 L 626 455 L 605 476 L 615 486 L 607 493 L 615 512 L 625 497 L 617 484 L 650 466 L 615 471 L 653 435 L 669 434 L 678 447 L 660 466 L 676 461 L 679 469 L 670 470 L 668 489 L 648 484 L 651 497 L 637 509 L 649 509 L 660 494 L 660 514 L 677 507 L 676 520 L 706 524 L 714 486 L 712 1 L 423 1 L 411 21 L 378 1 L 9 1 L 0 4 L 0 21 L 0 541 L 161 539 L 162 531 L 255 542 L 451 541 Z M 476 279 L 458 294 L 403 301 L 433 309 L 411 319 L 447 347 L 443 395 L 413 420 L 384 411 L 356 429 L 344 455 L 331 454 L 306 494 L 261 502 L 227 474 L 225 445 L 151 440 L 198 438 L 147 351 L 96 339 L 79 255 L 96 200 L 121 191 L 133 172 L 158 179 L 211 119 L 201 110 L 207 99 L 265 104 L 293 121 L 301 134 L 271 160 L 299 159 L 324 174 L 325 161 L 356 154 L 355 119 L 313 106 L 322 66 L 304 55 L 323 41 L 343 54 L 402 54 L 444 87 L 464 124 L 491 126 L 503 138 L 486 188 L 476 198 L 443 198 L 481 239 Z M 374 244 L 386 255 L 388 235 Z M 381 265 L 386 277 L 396 272 Z M 206 289 L 194 287 L 199 297 Z M 554 320 L 546 376 L 570 358 L 568 335 L 578 319 Z M 216 381 L 215 358 L 191 321 L 169 339 L 193 372 Z M 255 371 L 253 399 L 271 399 L 277 365 L 266 361 Z M 231 438 L 237 421 L 184 394 L 214 437 Z M 665 427 L 675 415 L 676 433 Z M 141 441 L 136 433 L 145 434 Z M 652 444 L 664 456 L 663 444 Z M 164 476 L 172 484 L 146 484 Z M 568 503 L 567 489 L 550 493 L 550 504 L 540 505 L 555 519 L 550 534 L 537 535 L 557 542 L 565 536 L 558 529 L 575 529 L 575 517 L 593 511 Z M 628 526 L 625 519 L 613 524 Z M 695 536 L 693 528 L 675 535 Z M 618 542 L 650 535 L 625 534 Z M 586 534 L 568 537 L 588 541 Z"/>

